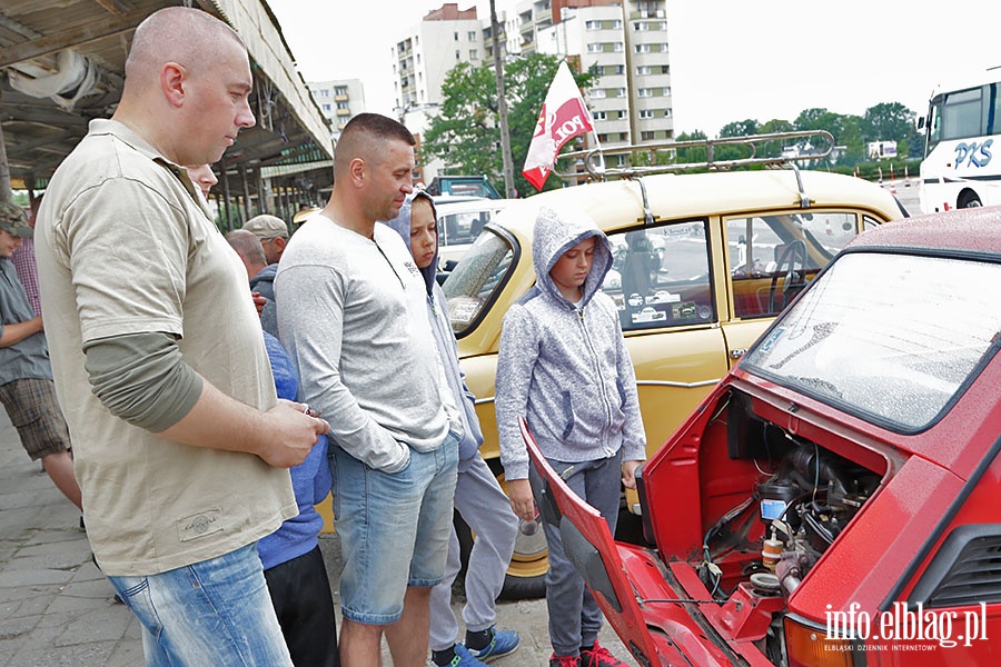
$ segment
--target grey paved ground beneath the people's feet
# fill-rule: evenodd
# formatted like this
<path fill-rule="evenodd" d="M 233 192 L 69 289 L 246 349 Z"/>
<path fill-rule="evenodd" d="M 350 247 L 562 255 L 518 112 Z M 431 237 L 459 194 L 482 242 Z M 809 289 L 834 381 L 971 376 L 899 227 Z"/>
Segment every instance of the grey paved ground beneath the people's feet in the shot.
<path fill-rule="evenodd" d="M 79 518 L 0 411 L 0 667 L 142 665 L 138 625 L 91 563 Z M 337 601 L 339 542 L 323 535 L 320 546 Z M 522 648 L 492 665 L 545 666 L 545 600 L 500 603 L 498 615 L 500 627 L 522 634 Z M 607 627 L 602 643 L 626 655 Z"/>

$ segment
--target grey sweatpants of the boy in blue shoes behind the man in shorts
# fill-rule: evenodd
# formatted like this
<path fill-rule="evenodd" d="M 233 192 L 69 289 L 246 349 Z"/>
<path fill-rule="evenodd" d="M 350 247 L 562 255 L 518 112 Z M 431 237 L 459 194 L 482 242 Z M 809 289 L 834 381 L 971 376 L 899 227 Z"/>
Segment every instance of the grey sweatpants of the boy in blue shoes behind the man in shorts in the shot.
<path fill-rule="evenodd" d="M 466 568 L 463 623 L 467 630 L 485 630 L 497 619 L 495 600 L 500 595 L 504 575 L 511 564 L 518 518 L 479 452 L 470 459 L 459 461 L 455 508 L 476 535 Z M 458 638 L 458 621 L 452 610 L 452 584 L 460 567 L 458 537 L 453 528 L 445 578 L 432 588 L 432 650 L 449 648 Z"/>

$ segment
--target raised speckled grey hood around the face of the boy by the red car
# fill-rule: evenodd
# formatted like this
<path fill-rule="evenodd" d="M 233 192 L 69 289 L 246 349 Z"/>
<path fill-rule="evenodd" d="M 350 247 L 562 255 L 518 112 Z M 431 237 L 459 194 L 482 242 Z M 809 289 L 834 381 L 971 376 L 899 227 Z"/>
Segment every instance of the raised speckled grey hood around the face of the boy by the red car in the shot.
<path fill-rule="evenodd" d="M 594 293 L 601 289 L 605 276 L 612 268 L 612 243 L 608 237 L 598 229 L 594 220 L 581 209 L 561 207 L 561 210 L 543 207 L 535 217 L 535 231 L 532 246 L 532 261 L 535 266 L 536 287 L 557 301 L 569 303 L 559 293 L 549 271 L 564 252 L 594 237 L 594 262 L 584 281 L 582 292 L 586 305 Z"/>

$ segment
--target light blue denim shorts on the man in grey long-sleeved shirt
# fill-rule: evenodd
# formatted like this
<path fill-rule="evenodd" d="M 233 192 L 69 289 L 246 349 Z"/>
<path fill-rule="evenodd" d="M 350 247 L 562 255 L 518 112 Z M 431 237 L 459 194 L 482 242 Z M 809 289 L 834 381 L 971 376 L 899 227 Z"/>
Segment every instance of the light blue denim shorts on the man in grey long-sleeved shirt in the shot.
<path fill-rule="evenodd" d="M 344 557 L 341 614 L 348 620 L 396 623 L 408 587 L 429 588 L 445 576 L 459 439 L 449 431 L 433 451 L 412 449 L 410 462 L 392 475 L 330 447 L 334 527 Z"/>

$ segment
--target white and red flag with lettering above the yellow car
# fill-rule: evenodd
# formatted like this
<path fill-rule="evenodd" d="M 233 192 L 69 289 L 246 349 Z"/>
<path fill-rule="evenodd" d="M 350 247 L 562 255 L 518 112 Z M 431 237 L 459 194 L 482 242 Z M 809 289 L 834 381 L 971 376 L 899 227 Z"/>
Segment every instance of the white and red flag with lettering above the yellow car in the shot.
<path fill-rule="evenodd" d="M 537 190 L 542 190 L 563 145 L 581 135 L 593 132 L 591 113 L 584 106 L 581 89 L 574 81 L 566 61 L 559 63 L 546 92 L 542 112 L 535 123 L 535 135 L 528 145 L 528 156 L 522 175 Z"/>

